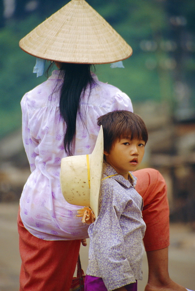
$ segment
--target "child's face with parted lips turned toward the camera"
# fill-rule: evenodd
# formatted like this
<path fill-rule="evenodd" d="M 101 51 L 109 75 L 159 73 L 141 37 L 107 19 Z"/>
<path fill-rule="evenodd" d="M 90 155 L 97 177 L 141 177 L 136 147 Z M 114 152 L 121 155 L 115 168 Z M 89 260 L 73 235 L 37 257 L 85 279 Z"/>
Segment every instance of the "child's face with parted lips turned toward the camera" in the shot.
<path fill-rule="evenodd" d="M 143 159 L 145 141 L 138 139 L 117 139 L 110 152 L 105 152 L 106 161 L 118 174 L 135 171 Z M 128 173 L 122 175 L 128 179 Z"/>

